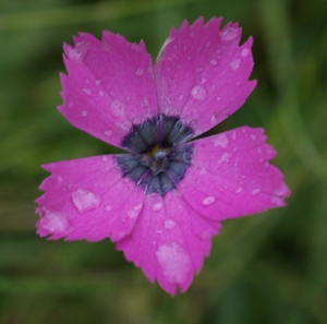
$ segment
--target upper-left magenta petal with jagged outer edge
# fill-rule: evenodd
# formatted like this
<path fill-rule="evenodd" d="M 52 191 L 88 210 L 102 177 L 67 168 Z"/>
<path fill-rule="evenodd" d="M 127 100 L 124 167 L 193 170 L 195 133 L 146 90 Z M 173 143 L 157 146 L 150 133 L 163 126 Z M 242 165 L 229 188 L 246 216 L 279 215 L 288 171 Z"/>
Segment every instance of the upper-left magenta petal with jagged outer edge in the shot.
<path fill-rule="evenodd" d="M 64 45 L 60 112 L 76 128 L 116 146 L 133 123 L 158 113 L 152 58 L 144 43 L 104 32 Z"/>

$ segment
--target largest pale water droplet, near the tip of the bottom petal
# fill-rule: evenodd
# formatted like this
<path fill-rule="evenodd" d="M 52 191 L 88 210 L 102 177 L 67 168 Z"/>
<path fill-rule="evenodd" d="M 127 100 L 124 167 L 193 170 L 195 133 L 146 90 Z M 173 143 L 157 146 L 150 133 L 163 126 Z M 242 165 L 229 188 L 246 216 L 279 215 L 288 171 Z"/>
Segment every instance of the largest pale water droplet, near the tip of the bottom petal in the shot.
<path fill-rule="evenodd" d="M 172 284 L 182 284 L 191 269 L 189 254 L 177 243 L 159 247 L 156 251 L 157 260 L 167 280 Z"/>

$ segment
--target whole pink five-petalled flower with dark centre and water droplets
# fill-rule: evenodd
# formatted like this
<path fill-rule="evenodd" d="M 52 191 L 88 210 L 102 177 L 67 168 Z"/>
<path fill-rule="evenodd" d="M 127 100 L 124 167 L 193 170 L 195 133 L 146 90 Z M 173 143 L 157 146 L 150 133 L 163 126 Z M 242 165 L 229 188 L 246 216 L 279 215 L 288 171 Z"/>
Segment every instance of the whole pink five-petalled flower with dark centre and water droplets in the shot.
<path fill-rule="evenodd" d="M 43 166 L 37 233 L 110 238 L 125 257 L 174 295 L 185 291 L 225 219 L 282 206 L 289 195 L 263 129 L 241 127 L 190 141 L 239 109 L 252 38 L 203 19 L 171 29 L 156 63 L 144 43 L 102 33 L 64 45 L 59 111 L 76 128 L 129 153 Z"/>

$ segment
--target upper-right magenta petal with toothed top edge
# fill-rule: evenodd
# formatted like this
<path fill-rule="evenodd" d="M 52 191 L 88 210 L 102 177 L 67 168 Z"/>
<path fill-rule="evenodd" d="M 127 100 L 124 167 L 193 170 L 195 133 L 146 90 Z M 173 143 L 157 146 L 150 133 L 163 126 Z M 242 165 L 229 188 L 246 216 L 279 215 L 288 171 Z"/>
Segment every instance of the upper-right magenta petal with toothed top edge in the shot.
<path fill-rule="evenodd" d="M 229 23 L 219 31 L 221 20 L 172 28 L 155 64 L 160 111 L 180 116 L 195 135 L 239 109 L 256 85 L 247 81 L 252 38 L 239 46 L 241 28 Z"/>

